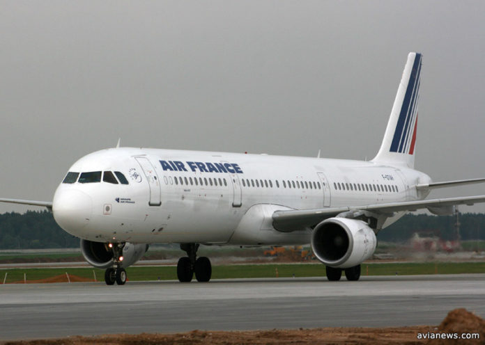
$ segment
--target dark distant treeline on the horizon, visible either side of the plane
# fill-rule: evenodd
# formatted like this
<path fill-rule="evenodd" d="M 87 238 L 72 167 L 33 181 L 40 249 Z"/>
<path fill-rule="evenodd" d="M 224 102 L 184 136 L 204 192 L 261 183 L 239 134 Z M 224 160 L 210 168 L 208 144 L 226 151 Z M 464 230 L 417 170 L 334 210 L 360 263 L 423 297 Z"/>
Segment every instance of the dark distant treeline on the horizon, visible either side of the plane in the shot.
<path fill-rule="evenodd" d="M 462 240 L 485 239 L 485 214 L 460 214 Z M 456 239 L 456 216 L 408 214 L 379 232 L 379 241 L 405 242 L 415 232 Z M 0 214 L 0 249 L 76 248 L 79 239 L 63 231 L 49 211 Z"/>

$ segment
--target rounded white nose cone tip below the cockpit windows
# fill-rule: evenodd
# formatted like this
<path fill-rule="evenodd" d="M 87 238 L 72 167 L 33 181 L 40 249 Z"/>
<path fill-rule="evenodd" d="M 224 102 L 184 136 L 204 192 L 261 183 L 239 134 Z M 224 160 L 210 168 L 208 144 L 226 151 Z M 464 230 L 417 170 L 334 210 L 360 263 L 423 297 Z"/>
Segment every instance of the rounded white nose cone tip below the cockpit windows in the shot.
<path fill-rule="evenodd" d="M 85 227 L 93 211 L 89 195 L 74 189 L 57 191 L 52 201 L 52 213 L 56 222 L 67 232 L 75 233 Z"/>

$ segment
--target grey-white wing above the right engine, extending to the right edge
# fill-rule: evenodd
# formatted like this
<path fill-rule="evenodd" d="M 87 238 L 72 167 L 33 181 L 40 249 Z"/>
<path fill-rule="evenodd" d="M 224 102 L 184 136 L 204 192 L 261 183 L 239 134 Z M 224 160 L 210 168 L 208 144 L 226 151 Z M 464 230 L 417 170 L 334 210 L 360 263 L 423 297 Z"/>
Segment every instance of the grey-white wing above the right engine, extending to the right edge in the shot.
<path fill-rule="evenodd" d="M 291 211 L 275 211 L 272 214 L 273 226 L 281 232 L 292 232 L 300 230 L 302 227 L 313 227 L 321 221 L 338 216 L 345 212 L 369 211 L 373 214 L 382 216 L 392 216 L 397 211 L 416 211 L 417 209 L 429 209 L 431 212 L 439 214 L 439 210 L 449 210 L 459 204 L 472 205 L 485 202 L 485 195 L 430 199 L 419 201 L 390 202 L 387 204 L 369 204 L 351 207 L 330 207 L 327 209 L 302 209 Z M 442 214 L 448 214 L 442 212 Z"/>

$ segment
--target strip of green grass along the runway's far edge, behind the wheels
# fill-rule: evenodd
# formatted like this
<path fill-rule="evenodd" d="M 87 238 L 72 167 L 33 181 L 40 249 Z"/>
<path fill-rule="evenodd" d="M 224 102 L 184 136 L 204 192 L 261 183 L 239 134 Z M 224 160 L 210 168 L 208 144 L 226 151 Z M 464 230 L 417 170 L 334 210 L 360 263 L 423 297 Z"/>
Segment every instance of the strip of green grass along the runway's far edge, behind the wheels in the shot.
<path fill-rule="evenodd" d="M 176 280 L 174 266 L 135 266 L 127 270 L 128 279 L 137 280 Z M 27 280 L 39 280 L 55 275 L 79 275 L 93 279 L 93 272 L 98 281 L 104 280 L 104 270 L 98 268 L 11 268 L 0 269 L 0 283 L 5 274 L 6 282 L 23 282 L 24 273 Z M 419 275 L 419 274 L 456 274 L 485 273 L 485 262 L 426 262 L 402 264 L 362 264 L 362 275 Z M 289 278 L 324 277 L 323 264 L 263 264 L 263 265 L 229 265 L 213 266 L 213 279 L 229 278 Z"/>

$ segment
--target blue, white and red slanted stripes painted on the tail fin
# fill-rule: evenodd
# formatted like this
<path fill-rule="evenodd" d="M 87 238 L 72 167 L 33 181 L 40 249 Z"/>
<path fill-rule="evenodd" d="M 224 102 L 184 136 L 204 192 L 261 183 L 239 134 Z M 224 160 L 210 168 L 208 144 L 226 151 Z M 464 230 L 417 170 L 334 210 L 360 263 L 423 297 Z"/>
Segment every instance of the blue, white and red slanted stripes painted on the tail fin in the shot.
<path fill-rule="evenodd" d="M 392 138 L 390 152 L 414 154 L 417 129 L 417 101 L 421 73 L 421 54 L 416 54 L 406 95 L 403 99 L 396 130 Z"/>

